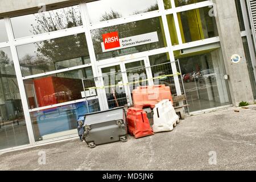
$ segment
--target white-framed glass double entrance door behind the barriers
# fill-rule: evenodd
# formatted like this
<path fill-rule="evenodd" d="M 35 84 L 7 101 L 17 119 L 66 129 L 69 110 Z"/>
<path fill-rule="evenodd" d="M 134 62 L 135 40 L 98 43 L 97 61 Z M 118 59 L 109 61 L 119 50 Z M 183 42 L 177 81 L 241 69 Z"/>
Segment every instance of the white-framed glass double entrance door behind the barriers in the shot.
<path fill-rule="evenodd" d="M 133 104 L 132 93 L 138 86 L 148 85 L 151 70 L 146 59 L 127 60 L 101 68 L 109 109 Z"/>

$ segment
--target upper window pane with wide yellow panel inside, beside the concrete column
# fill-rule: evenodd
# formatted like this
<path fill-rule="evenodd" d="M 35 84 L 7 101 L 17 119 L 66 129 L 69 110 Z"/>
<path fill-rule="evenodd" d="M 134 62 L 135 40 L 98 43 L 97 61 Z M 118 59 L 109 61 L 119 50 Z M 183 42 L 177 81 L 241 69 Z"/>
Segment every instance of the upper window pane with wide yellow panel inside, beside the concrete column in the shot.
<path fill-rule="evenodd" d="M 177 13 L 183 43 L 218 36 L 216 20 L 210 16 L 210 7 Z"/>

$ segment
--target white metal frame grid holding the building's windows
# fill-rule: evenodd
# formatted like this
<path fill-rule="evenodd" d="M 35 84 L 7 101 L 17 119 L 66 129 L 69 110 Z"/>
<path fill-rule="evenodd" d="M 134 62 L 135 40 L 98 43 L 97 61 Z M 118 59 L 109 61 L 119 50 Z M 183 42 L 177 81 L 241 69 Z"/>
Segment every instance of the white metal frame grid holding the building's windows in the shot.
<path fill-rule="evenodd" d="M 213 6 L 213 2 L 211 0 L 200 2 L 200 3 L 194 3 L 194 4 L 186 5 L 186 6 L 180 6 L 180 7 L 175 6 L 174 0 L 170 0 L 170 1 L 171 1 L 172 9 L 165 10 L 163 0 L 157 0 L 159 10 L 150 11 L 150 12 L 142 13 L 142 14 L 138 14 L 138 15 L 127 16 L 125 18 L 118 18 L 118 19 L 113 19 L 113 20 L 108 20 L 108 21 L 105 21 L 105 22 L 99 22 L 99 23 L 92 24 L 92 23 L 90 23 L 90 20 L 89 20 L 89 15 L 88 15 L 86 2 L 81 0 L 79 2 L 79 7 L 80 7 L 81 18 L 82 18 L 82 26 L 67 28 L 67 29 L 59 30 L 59 31 L 48 32 L 48 33 L 45 33 L 45 34 L 38 34 L 38 35 L 34 35 L 34 36 L 27 36 L 27 37 L 18 38 L 18 39 L 14 39 L 13 30 L 12 30 L 11 22 L 10 22 L 10 17 L 6 16 L 4 19 L 5 19 L 6 31 L 7 31 L 8 37 L 9 37 L 9 41 L 0 43 L 0 48 L 4 48 L 4 47 L 10 47 L 11 48 L 11 55 L 13 57 L 16 77 L 17 77 L 17 80 L 18 80 L 19 92 L 20 92 L 20 96 L 22 98 L 23 111 L 24 111 L 24 116 L 25 116 L 25 120 L 26 120 L 28 139 L 30 140 L 30 143 L 25 145 L 25 146 L 5 148 L 3 150 L 0 150 L 0 152 L 14 150 L 16 148 L 35 146 L 35 145 L 38 145 L 38 144 L 48 143 L 48 142 L 52 142 L 52 141 L 54 142 L 54 141 L 57 141 L 57 140 L 60 140 L 60 139 L 66 139 L 68 137 L 71 137 L 71 136 L 68 136 L 68 137 L 64 136 L 64 137 L 60 137 L 60 138 L 56 138 L 56 139 L 49 139 L 49 140 L 43 140 L 43 141 L 35 142 L 34 131 L 33 131 L 33 128 L 32 128 L 30 113 L 32 111 L 48 109 L 48 108 L 51 108 L 51 107 L 68 105 L 68 104 L 73 104 L 73 103 L 85 101 L 85 99 L 84 100 L 82 99 L 82 100 L 77 100 L 77 101 L 64 102 L 64 103 L 56 104 L 56 105 L 52 105 L 52 106 L 39 107 L 39 108 L 32 109 L 32 110 L 28 109 L 26 91 L 25 91 L 25 88 L 24 88 L 23 80 L 26 80 L 28 78 L 34 78 L 34 77 L 51 75 L 51 74 L 55 74 L 55 73 L 71 71 L 71 70 L 85 68 L 85 67 L 92 67 L 94 77 L 99 77 L 101 75 L 100 71 L 99 71 L 99 68 L 106 65 L 106 64 L 109 64 L 109 63 L 115 64 L 115 63 L 118 63 L 119 61 L 137 59 L 137 58 L 141 58 L 141 57 L 146 57 L 146 60 L 149 61 L 148 56 L 157 55 L 157 54 L 160 54 L 160 53 L 167 53 L 167 52 L 170 55 L 170 62 L 171 62 L 172 72 L 177 73 L 174 51 L 184 49 L 184 48 L 201 46 L 201 45 L 204 45 L 204 44 L 220 42 L 220 39 L 218 38 L 218 36 L 215 37 L 215 38 L 209 38 L 209 39 L 199 40 L 199 41 L 196 41 L 196 42 L 190 42 L 190 43 L 185 43 L 185 44 L 183 44 L 182 40 L 181 40 L 181 33 L 180 33 L 179 22 L 177 20 L 177 13 L 180 13 L 182 11 L 192 10 L 192 9 L 198 9 L 198 8 L 206 7 L 206 6 Z M 172 46 L 172 43 L 171 43 L 171 37 L 170 37 L 170 32 L 169 32 L 169 29 L 168 29 L 168 23 L 167 23 L 167 17 L 166 17 L 166 15 L 168 15 L 168 14 L 173 14 L 174 15 L 177 37 L 178 37 L 178 40 L 179 40 L 179 45 L 177 45 L 177 46 Z M 167 47 L 154 49 L 154 50 L 150 50 L 150 51 L 145 51 L 145 52 L 134 53 L 134 54 L 131 54 L 131 55 L 114 57 L 114 58 L 100 60 L 100 61 L 96 60 L 96 55 L 95 55 L 95 52 L 94 52 L 93 41 L 92 41 L 92 35 L 90 34 L 91 30 L 95 30 L 97 28 L 115 26 L 115 25 L 123 24 L 123 23 L 135 22 L 135 21 L 138 21 L 138 20 L 160 17 L 160 16 L 162 17 L 162 21 L 163 21 L 163 28 L 164 28 L 164 34 L 166 36 Z M 22 73 L 20 71 L 18 53 L 16 51 L 16 46 L 29 44 L 29 43 L 34 43 L 34 42 L 40 42 L 40 41 L 43 41 L 43 40 L 61 38 L 61 37 L 74 35 L 74 34 L 81 34 L 81 33 L 84 33 L 85 37 L 86 37 L 89 56 L 90 56 L 90 60 L 91 60 L 90 64 L 80 65 L 80 66 L 77 66 L 77 67 L 72 67 L 72 68 L 67 68 L 67 69 L 61 69 L 61 70 L 47 72 L 47 73 L 38 74 L 38 75 L 22 77 Z M 177 94 L 181 94 L 179 76 L 175 76 L 174 80 L 175 80 L 175 85 L 176 85 L 176 89 L 177 89 Z M 101 80 L 96 80 L 95 84 L 96 84 L 97 87 L 100 87 L 100 86 L 104 85 L 104 83 Z M 104 99 L 105 98 L 104 92 L 102 92 L 99 89 L 99 90 L 97 90 L 97 93 L 98 93 L 98 96 L 92 97 L 92 99 L 97 99 L 98 98 L 98 100 L 100 102 L 101 110 L 108 109 L 108 103 Z M 76 136 L 72 136 L 72 137 L 76 137 Z"/>

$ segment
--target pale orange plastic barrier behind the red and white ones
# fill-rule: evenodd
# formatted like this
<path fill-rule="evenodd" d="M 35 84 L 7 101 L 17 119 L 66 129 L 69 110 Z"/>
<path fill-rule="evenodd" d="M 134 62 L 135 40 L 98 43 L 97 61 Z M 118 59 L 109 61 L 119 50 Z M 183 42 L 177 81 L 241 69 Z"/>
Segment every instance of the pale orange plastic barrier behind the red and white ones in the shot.
<path fill-rule="evenodd" d="M 173 103 L 170 86 L 139 86 L 133 90 L 133 104 L 136 108 L 151 107 L 154 109 L 155 104 L 163 100 L 170 100 Z"/>

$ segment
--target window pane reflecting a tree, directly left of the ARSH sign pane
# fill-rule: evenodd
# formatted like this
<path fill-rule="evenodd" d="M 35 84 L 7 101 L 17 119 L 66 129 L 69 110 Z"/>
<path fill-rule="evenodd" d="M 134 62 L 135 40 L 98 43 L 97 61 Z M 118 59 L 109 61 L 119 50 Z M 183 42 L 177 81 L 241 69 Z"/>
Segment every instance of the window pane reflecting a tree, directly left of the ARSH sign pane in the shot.
<path fill-rule="evenodd" d="M 22 76 L 90 63 L 85 34 L 18 46 L 17 51 Z"/>

